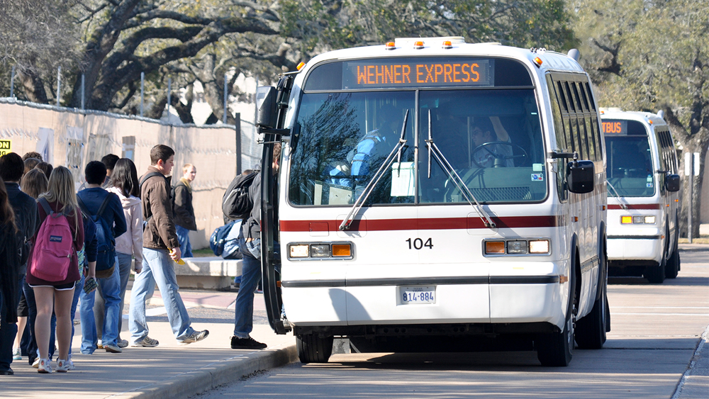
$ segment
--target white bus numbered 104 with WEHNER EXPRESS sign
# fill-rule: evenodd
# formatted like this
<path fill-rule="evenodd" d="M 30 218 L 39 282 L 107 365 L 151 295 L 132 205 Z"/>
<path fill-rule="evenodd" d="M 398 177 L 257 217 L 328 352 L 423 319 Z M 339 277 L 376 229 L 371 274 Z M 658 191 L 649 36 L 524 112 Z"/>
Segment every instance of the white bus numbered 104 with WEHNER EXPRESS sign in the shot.
<path fill-rule="evenodd" d="M 264 176 L 283 142 L 262 186 L 267 313 L 301 361 L 333 337 L 550 366 L 574 337 L 603 346 L 605 152 L 574 58 L 397 39 L 319 55 L 257 105 Z"/>

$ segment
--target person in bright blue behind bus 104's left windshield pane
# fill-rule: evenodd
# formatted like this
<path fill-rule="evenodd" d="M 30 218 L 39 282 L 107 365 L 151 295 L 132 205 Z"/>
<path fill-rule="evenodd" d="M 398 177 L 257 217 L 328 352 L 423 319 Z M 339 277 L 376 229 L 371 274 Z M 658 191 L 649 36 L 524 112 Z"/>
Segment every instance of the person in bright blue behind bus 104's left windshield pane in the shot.
<path fill-rule="evenodd" d="M 384 104 L 376 112 L 376 125 L 357 142 L 347 159 L 352 163 L 351 176 L 355 185 L 355 198 L 369 184 L 372 175 L 393 150 L 401 136 L 403 116 L 401 110 Z"/>

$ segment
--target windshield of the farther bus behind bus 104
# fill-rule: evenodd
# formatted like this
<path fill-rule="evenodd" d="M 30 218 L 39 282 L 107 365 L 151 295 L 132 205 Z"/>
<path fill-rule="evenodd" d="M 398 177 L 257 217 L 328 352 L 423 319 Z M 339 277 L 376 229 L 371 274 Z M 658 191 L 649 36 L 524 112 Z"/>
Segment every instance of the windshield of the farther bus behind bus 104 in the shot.
<path fill-rule="evenodd" d="M 655 192 L 647 135 L 605 136 L 607 179 L 619 196 L 649 197 Z M 608 191 L 608 196 L 613 194 Z"/>

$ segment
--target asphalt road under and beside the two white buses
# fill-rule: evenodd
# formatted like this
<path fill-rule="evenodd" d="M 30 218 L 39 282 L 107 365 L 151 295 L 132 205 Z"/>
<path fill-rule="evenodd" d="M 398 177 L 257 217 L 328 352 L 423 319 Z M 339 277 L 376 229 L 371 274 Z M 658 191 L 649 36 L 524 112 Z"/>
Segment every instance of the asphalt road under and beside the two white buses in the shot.
<path fill-rule="evenodd" d="M 681 252 L 677 279 L 610 280 L 612 331 L 568 367 L 535 352 L 335 354 L 290 364 L 195 398 L 709 398 L 709 252 Z M 697 353 L 696 353 L 697 352 Z"/>

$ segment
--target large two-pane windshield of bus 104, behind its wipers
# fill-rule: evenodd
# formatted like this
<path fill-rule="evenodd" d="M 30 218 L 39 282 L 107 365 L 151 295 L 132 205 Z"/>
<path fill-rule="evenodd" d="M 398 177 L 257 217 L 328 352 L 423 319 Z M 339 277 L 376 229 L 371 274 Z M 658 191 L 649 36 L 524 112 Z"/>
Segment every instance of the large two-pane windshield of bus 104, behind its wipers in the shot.
<path fill-rule="evenodd" d="M 402 128 L 406 146 L 386 164 Z M 294 135 L 288 190 L 296 206 L 352 204 L 382 164 L 367 206 L 467 203 L 452 174 L 481 203 L 547 196 L 533 89 L 306 93 Z M 430 143 L 442 160 L 429 156 Z"/>

